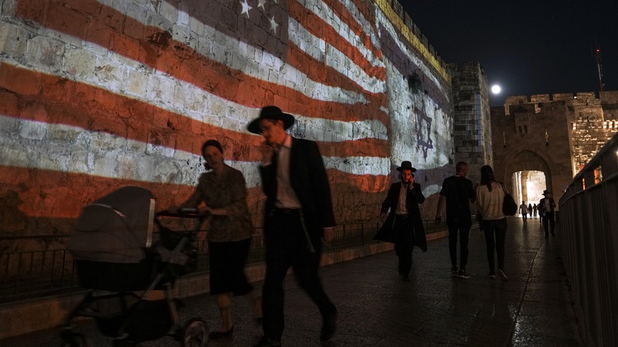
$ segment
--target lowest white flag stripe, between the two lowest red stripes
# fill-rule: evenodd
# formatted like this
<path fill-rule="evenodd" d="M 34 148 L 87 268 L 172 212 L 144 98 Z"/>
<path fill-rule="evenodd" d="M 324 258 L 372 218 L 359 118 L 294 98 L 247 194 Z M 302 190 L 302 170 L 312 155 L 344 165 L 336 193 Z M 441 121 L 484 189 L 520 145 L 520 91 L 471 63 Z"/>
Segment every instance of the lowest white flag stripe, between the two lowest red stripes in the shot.
<path fill-rule="evenodd" d="M 0 115 L 0 165 L 53 170 L 142 182 L 194 185 L 200 155 L 100 131 Z M 67 139 L 74 146 L 67 146 Z M 42 146 L 45 143 L 45 146 Z M 247 187 L 260 184 L 257 162 L 227 160 L 244 173 Z M 324 157 L 327 169 L 353 175 L 388 175 L 389 158 Z M 155 170 L 152 170 L 155 168 Z"/>

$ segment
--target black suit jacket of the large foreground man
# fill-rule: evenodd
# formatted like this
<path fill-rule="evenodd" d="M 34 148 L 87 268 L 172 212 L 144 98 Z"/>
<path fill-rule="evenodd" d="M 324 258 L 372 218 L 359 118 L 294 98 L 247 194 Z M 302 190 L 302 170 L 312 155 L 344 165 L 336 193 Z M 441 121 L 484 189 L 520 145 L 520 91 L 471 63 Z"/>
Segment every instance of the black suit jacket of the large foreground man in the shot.
<path fill-rule="evenodd" d="M 277 201 L 277 167 L 260 167 L 260 173 L 266 195 L 265 216 L 268 218 Z M 322 156 L 314 141 L 292 137 L 290 184 L 302 204 L 304 220 L 310 233 L 321 236 L 323 228 L 335 226 L 331 188 Z"/>

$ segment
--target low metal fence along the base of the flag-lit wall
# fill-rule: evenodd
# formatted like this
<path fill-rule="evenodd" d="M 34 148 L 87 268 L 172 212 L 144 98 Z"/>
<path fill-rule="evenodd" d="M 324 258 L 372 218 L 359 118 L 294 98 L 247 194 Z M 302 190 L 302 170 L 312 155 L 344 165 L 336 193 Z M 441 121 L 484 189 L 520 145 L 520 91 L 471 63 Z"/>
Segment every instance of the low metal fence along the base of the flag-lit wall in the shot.
<path fill-rule="evenodd" d="M 425 232 L 442 230 L 445 225 L 434 225 L 433 220 L 424 220 Z M 373 237 L 379 228 L 378 222 L 348 223 L 338 225 L 335 240 L 324 245 L 324 252 L 360 247 L 376 243 Z M 198 232 L 195 245 L 198 248 L 198 272 L 208 271 L 208 243 L 205 230 Z M 0 237 L 0 241 L 27 242 L 54 240 L 66 244 L 70 235 L 30 235 L 23 237 Z M 249 250 L 248 263 L 257 264 L 264 259 L 264 243 L 261 230 L 256 230 Z M 66 249 L 40 251 L 2 252 L 0 254 L 0 302 L 38 298 L 81 290 L 76 266 L 71 253 Z"/>

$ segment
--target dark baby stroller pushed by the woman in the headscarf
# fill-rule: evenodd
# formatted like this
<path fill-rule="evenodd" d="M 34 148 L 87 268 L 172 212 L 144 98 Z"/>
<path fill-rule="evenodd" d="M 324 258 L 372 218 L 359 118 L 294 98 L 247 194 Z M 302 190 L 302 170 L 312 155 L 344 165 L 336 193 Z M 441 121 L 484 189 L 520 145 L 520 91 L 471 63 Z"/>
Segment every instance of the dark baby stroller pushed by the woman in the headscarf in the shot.
<path fill-rule="evenodd" d="M 173 283 L 194 269 L 197 250 L 192 236 L 202 222 L 198 214 L 159 213 L 196 218 L 195 229 L 153 235 L 154 197 L 147 189 L 124 187 L 84 208 L 67 248 L 74 256 L 79 283 L 89 289 L 62 329 L 65 346 L 85 346 L 74 329 L 77 317 L 92 317 L 114 346 L 168 335 L 183 346 L 205 346 L 207 327 L 199 318 L 181 327 Z M 169 235 L 174 234 L 174 235 Z M 173 245 L 171 245 L 173 243 Z"/>

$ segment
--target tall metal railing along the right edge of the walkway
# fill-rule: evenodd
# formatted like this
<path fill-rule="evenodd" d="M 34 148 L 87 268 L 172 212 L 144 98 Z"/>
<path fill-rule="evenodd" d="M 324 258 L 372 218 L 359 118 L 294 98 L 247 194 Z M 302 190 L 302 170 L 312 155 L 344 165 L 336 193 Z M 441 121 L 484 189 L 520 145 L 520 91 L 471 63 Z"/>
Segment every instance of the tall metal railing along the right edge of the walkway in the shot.
<path fill-rule="evenodd" d="M 589 346 L 618 346 L 618 134 L 559 202 L 563 260 Z"/>

